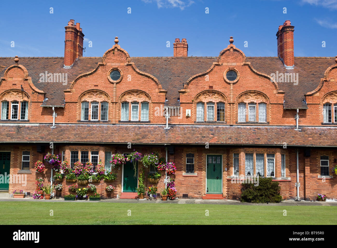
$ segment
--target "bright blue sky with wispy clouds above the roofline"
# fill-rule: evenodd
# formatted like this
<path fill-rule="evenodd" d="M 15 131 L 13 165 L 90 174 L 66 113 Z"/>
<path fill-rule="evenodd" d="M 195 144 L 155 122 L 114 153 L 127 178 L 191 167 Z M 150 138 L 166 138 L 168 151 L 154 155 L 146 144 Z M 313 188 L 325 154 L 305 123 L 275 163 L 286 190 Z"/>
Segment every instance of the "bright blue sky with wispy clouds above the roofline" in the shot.
<path fill-rule="evenodd" d="M 187 39 L 189 56 L 218 56 L 229 36 L 246 56 L 277 56 L 285 20 L 295 26 L 295 56 L 337 55 L 337 0 L 3 1 L 1 9 L 0 57 L 63 56 L 70 19 L 83 28 L 84 56 L 102 56 L 115 36 L 134 57 L 173 56 L 175 38 Z"/>

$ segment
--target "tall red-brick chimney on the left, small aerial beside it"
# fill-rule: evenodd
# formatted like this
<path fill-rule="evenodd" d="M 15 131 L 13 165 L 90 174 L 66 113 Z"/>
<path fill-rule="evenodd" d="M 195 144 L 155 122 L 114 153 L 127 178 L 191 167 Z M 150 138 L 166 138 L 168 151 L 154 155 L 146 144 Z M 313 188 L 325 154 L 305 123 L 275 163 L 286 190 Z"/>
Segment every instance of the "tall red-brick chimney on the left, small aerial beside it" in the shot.
<path fill-rule="evenodd" d="M 69 68 L 79 57 L 83 56 L 83 37 L 80 23 L 70 20 L 65 28 L 64 67 Z"/>

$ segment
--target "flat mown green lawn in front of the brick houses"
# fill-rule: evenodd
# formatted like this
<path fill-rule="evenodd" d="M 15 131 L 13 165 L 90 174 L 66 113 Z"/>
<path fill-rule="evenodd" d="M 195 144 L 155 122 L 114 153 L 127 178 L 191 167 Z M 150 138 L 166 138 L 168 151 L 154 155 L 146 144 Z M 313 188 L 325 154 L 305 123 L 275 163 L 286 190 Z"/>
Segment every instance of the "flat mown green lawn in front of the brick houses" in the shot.
<path fill-rule="evenodd" d="M 0 202 L 1 224 L 332 224 L 335 206 Z M 53 216 L 50 216 L 53 210 Z M 131 210 L 131 216 L 128 216 Z M 205 216 L 205 211 L 209 216 Z M 283 210 L 287 216 L 283 216 Z M 323 221 L 318 221 L 323 220 Z"/>

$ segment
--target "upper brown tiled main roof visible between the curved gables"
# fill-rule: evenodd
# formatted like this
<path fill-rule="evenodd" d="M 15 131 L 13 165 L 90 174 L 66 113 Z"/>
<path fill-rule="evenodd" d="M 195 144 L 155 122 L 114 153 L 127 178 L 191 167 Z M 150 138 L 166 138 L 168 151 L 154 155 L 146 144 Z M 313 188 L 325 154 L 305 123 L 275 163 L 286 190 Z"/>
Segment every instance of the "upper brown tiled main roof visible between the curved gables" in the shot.
<path fill-rule="evenodd" d="M 14 57 L 0 57 L 0 77 L 5 69 L 14 64 Z M 63 57 L 20 57 L 19 63 L 25 66 L 33 84 L 46 92 L 47 101 L 44 105 L 64 105 L 64 89 L 69 85 L 39 82 L 40 73 L 67 73 L 68 83 L 78 75 L 93 70 L 101 57 L 81 57 L 75 61 L 72 68 L 63 68 Z M 191 76 L 207 71 L 216 57 L 131 57 L 136 67 L 155 76 L 167 90 L 166 105 L 179 106 L 178 90 L 182 89 L 186 80 Z M 304 94 L 314 90 L 323 78 L 326 69 L 335 64 L 333 57 L 295 57 L 295 67 L 287 70 L 278 57 L 247 57 L 247 61 L 255 70 L 270 75 L 271 73 L 298 73 L 299 83 L 278 82 L 281 90 L 285 91 L 285 108 L 307 108 Z"/>

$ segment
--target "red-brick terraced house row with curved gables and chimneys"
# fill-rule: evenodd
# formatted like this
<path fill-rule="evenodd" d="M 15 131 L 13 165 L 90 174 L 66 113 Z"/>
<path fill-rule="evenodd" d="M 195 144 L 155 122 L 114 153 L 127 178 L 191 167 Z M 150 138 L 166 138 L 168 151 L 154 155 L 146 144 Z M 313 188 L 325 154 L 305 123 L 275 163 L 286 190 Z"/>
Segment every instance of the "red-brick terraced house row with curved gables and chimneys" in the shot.
<path fill-rule="evenodd" d="M 185 38 L 173 57 L 130 57 L 118 37 L 102 57 L 83 57 L 70 20 L 64 57 L 1 57 L 0 189 L 32 194 L 34 163 L 53 142 L 71 165 L 106 169 L 115 153 L 167 152 L 178 197 L 239 199 L 236 179 L 260 175 L 284 199 L 337 198 L 337 56 L 294 57 L 294 26 L 274 31 L 277 57 L 246 57 L 233 37 L 218 57 L 188 56 Z M 113 171 L 115 197 L 135 198 L 133 167 Z M 106 183 L 96 185 L 105 196 Z"/>

